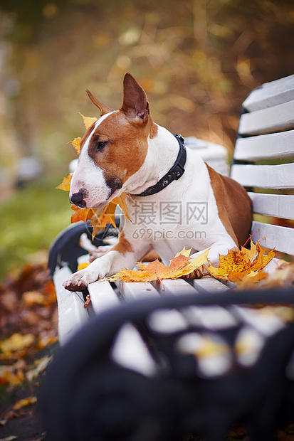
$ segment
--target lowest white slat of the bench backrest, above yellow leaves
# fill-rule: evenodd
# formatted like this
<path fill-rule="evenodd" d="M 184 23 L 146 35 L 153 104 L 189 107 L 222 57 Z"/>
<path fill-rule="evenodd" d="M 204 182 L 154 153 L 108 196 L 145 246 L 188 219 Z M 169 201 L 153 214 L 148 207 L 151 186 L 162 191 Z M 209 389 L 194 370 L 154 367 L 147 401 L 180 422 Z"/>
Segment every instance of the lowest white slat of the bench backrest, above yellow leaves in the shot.
<path fill-rule="evenodd" d="M 276 251 L 290 255 L 294 254 L 293 228 L 253 221 L 251 234 L 253 233 L 255 233 L 252 238 L 254 243 L 259 239 L 265 238 L 265 240 L 261 240 L 262 247 L 270 249 L 275 248 Z"/>

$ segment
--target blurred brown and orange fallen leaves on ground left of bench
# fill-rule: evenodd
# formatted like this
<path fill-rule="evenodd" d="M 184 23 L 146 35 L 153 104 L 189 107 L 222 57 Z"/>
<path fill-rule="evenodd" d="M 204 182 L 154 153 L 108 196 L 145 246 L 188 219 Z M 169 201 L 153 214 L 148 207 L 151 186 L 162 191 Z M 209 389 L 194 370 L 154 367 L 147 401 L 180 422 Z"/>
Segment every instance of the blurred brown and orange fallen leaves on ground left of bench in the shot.
<path fill-rule="evenodd" d="M 0 284 L 0 386 L 14 390 L 45 370 L 51 356 L 38 353 L 58 340 L 57 320 L 47 262 L 11 269 Z"/>

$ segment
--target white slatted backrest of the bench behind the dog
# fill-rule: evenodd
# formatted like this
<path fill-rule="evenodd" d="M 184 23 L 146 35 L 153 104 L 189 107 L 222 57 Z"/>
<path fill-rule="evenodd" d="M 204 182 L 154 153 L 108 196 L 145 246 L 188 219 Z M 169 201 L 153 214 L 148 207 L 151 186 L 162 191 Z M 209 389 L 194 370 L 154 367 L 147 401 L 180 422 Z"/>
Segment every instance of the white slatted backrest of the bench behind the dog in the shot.
<path fill-rule="evenodd" d="M 231 177 L 248 189 L 258 215 L 253 242 L 266 238 L 261 245 L 294 255 L 294 75 L 258 87 L 243 102 Z"/>

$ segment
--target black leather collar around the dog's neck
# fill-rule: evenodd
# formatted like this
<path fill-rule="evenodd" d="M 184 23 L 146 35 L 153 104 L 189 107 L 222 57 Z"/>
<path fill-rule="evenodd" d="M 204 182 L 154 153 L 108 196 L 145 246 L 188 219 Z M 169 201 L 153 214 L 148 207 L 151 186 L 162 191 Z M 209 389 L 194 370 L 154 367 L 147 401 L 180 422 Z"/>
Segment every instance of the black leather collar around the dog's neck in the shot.
<path fill-rule="evenodd" d="M 172 166 L 172 169 L 170 169 L 167 174 L 165 174 L 162 179 L 157 182 L 157 184 L 148 187 L 145 191 L 142 191 L 142 193 L 135 194 L 134 196 L 149 196 L 150 194 L 158 193 L 159 191 L 162 191 L 163 188 L 171 184 L 172 181 L 179 179 L 182 174 L 184 174 L 184 165 L 186 164 L 187 159 L 185 141 L 180 134 L 174 134 L 174 137 L 176 137 L 177 141 L 179 142 L 179 154 L 174 165 Z"/>

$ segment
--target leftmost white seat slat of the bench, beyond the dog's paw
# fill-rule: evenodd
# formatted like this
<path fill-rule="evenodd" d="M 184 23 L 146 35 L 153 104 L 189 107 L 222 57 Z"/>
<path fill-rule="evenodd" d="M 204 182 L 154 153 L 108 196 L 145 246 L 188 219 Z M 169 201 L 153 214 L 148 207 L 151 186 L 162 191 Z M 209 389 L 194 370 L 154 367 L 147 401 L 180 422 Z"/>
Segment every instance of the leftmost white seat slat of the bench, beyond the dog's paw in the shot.
<path fill-rule="evenodd" d="M 63 282 L 70 276 L 68 267 L 56 270 L 53 275 L 53 282 L 56 287 L 58 302 L 58 336 L 60 344 L 75 334 L 80 326 L 88 320 L 88 312 L 84 308 L 84 299 L 81 292 L 70 292 L 63 287 Z"/>

